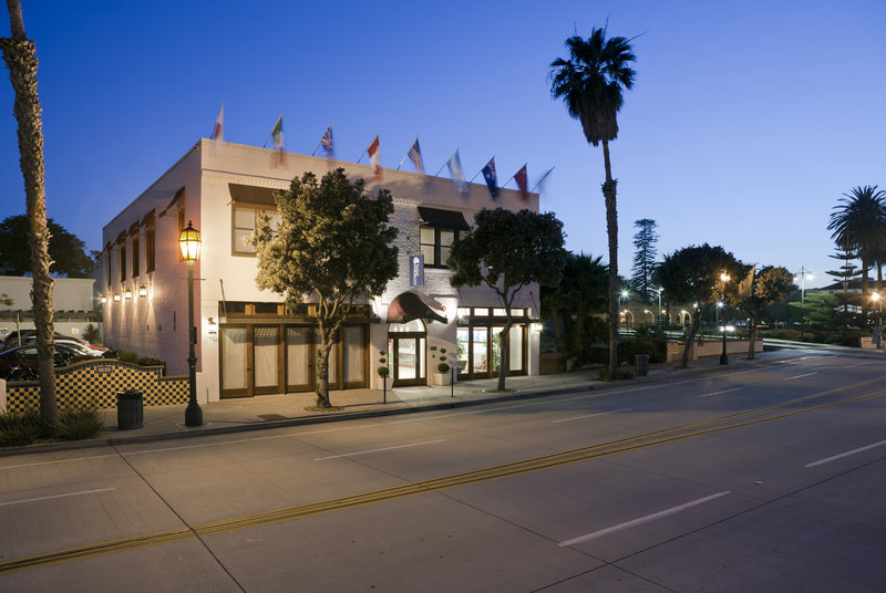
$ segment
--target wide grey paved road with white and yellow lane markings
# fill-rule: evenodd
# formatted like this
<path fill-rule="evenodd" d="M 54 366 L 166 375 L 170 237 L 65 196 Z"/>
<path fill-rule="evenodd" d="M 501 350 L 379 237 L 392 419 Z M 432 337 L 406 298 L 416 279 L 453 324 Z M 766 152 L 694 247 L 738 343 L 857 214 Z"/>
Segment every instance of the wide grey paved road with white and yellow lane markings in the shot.
<path fill-rule="evenodd" d="M 0 458 L 0 591 L 880 592 L 885 370 Z"/>

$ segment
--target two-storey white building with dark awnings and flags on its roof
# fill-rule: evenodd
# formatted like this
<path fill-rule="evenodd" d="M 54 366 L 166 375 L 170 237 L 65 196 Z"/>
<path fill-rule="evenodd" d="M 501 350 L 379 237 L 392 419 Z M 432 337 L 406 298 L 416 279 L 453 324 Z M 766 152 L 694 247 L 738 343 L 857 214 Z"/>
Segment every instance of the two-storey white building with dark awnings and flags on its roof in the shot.
<path fill-rule="evenodd" d="M 330 388 L 381 388 L 381 357 L 390 358 L 394 385 L 434 384 L 442 381 L 434 373 L 443 348 L 460 381 L 497 374 L 493 335 L 504 311 L 488 289 L 452 288 L 443 262 L 480 209 L 537 212 L 537 194 L 524 201 L 519 191 L 502 189 L 493 200 L 485 185 L 470 184 L 461 195 L 447 178 L 392 169 L 382 169 L 379 186 L 369 165 L 289 153 L 280 163 L 264 148 L 225 143 L 214 152 L 208 139 L 104 227 L 105 342 L 159 358 L 171 374 L 186 374 L 187 268 L 177 238 L 193 221 L 203 239 L 194 268 L 198 399 L 312 391 L 319 335 L 310 299 L 291 315 L 280 295 L 258 290 L 257 259 L 243 239 L 257 211 L 275 209 L 275 190 L 305 171 L 322 177 L 337 167 L 367 179 L 370 195 L 379 187 L 391 191 L 400 275 L 342 329 L 330 355 Z M 423 283 L 411 285 L 419 254 Z M 515 302 L 524 321 L 511 332 L 512 374 L 538 373 L 538 325 L 532 323 L 539 316 L 538 298 L 538 288 L 530 287 Z"/>

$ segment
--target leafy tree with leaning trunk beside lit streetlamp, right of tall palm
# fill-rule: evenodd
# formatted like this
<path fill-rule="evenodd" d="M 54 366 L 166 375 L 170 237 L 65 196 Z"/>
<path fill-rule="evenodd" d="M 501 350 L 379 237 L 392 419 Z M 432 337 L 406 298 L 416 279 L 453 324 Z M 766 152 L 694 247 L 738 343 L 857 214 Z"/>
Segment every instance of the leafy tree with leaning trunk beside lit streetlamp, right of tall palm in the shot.
<path fill-rule="evenodd" d="M 720 299 L 732 305 L 739 304 L 739 279 L 744 279 L 750 268 L 722 247 L 711 247 L 708 243 L 679 249 L 664 256 L 664 260 L 658 264 L 652 279 L 669 299 L 678 303 L 699 304 L 692 310 L 689 340 L 680 363 L 682 368 L 689 365 L 689 354 L 701 325 L 701 308 L 714 306 Z M 731 280 L 721 280 L 723 273 Z"/>

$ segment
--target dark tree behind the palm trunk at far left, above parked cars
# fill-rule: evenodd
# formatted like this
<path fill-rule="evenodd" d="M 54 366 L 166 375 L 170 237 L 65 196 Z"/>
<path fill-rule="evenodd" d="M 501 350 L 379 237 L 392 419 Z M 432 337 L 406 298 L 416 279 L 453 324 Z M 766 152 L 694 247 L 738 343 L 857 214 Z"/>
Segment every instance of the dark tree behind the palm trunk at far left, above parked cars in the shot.
<path fill-rule="evenodd" d="M 68 232 L 51 218 L 49 227 L 49 257 L 52 274 L 69 278 L 89 278 L 95 261 L 86 254 L 85 245 L 75 235 Z M 31 256 L 28 251 L 30 223 L 24 215 L 10 216 L 0 222 L 0 267 L 11 275 L 31 273 Z"/>

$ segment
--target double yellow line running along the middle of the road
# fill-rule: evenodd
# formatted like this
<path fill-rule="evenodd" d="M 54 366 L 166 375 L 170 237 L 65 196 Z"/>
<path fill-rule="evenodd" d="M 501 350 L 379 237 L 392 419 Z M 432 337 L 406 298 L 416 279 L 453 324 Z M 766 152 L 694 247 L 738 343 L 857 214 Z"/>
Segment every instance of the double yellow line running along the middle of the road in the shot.
<path fill-rule="evenodd" d="M 193 527 L 182 527 L 178 529 L 171 529 L 167 531 L 159 531 L 156 533 L 148 533 L 133 538 L 125 538 L 122 540 L 109 541 L 103 543 L 83 545 L 80 548 L 72 548 L 70 550 L 50 552 L 45 554 L 33 555 L 20 560 L 0 563 L 0 574 L 11 573 L 49 564 L 56 564 L 60 562 L 70 562 L 72 560 L 91 558 L 96 555 L 110 554 L 115 552 L 123 552 L 126 550 L 134 550 L 145 548 L 148 545 L 158 545 L 163 543 L 172 543 L 183 541 L 190 538 L 203 538 L 206 535 L 214 535 L 217 533 L 226 533 L 240 529 L 249 529 L 255 527 L 267 526 L 271 523 L 279 523 L 282 521 L 291 521 L 315 514 L 326 512 L 340 511 L 353 509 L 365 504 L 373 504 L 375 502 L 389 501 L 437 490 L 445 490 L 449 488 L 457 488 L 460 486 L 467 486 L 490 480 L 496 480 L 509 476 L 518 476 L 532 471 L 539 471 L 543 469 L 550 469 L 579 461 L 605 457 L 609 455 L 617 455 L 621 452 L 638 450 L 647 447 L 656 447 L 668 443 L 674 443 L 688 438 L 696 438 L 704 435 L 720 433 L 723 430 L 732 430 L 755 424 L 769 423 L 780 420 L 801 414 L 810 414 L 821 412 L 835 406 L 845 404 L 863 402 L 875 397 L 880 397 L 886 394 L 886 391 L 879 391 L 872 394 L 858 395 L 855 397 L 837 399 L 818 405 L 805 406 L 813 399 L 820 399 L 828 395 L 834 395 L 841 392 L 847 392 L 857 387 L 878 382 L 880 379 L 870 379 L 863 383 L 857 383 L 852 386 L 839 387 L 826 392 L 808 395 L 782 402 L 780 404 L 759 407 L 719 418 L 711 418 L 693 424 L 677 426 L 673 428 L 666 428 L 662 430 L 655 430 L 643 435 L 637 435 L 608 443 L 590 445 L 588 447 L 580 447 L 567 451 L 544 455 L 530 459 L 519 461 L 512 461 L 508 464 L 501 464 L 490 466 L 461 474 L 453 474 L 451 476 L 443 476 L 430 480 L 422 480 L 403 486 L 395 486 L 384 488 L 381 490 L 373 490 L 352 495 L 349 497 L 336 498 L 315 502 L 310 504 L 300 504 L 298 507 L 289 507 L 274 511 L 266 511 L 256 514 L 247 514 L 244 517 L 236 517 L 233 519 L 225 519 L 222 521 L 214 521 L 209 523 L 202 523 Z M 795 409 L 790 409 L 791 406 L 803 406 Z"/>

